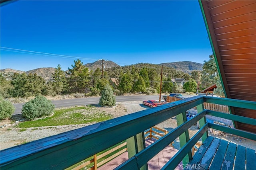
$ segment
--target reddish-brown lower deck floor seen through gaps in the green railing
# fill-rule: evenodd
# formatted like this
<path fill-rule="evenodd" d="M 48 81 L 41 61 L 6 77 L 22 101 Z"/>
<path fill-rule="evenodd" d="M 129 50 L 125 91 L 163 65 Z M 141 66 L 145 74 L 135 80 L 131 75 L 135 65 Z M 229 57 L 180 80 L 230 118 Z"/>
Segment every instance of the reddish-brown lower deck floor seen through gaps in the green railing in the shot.
<path fill-rule="evenodd" d="M 146 147 L 154 143 L 154 139 L 147 139 L 145 141 Z M 148 170 L 160 170 L 164 164 L 168 162 L 178 152 L 177 149 L 173 147 L 167 146 L 161 152 L 159 152 L 156 156 L 154 156 L 150 161 L 148 161 Z M 113 170 L 118 167 L 120 164 L 128 160 L 128 152 L 124 152 L 120 156 L 112 159 L 110 162 L 100 166 L 98 170 Z M 180 162 L 180 165 L 182 162 Z M 175 170 L 182 170 L 182 166 L 177 166 Z"/>

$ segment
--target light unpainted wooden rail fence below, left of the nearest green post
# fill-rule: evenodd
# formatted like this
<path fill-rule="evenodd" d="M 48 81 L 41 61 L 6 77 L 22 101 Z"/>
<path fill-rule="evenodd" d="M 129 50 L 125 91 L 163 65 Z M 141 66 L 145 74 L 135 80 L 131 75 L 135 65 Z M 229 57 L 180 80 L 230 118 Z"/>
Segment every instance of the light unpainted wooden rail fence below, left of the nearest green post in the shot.
<path fill-rule="evenodd" d="M 99 166 L 102 166 L 103 164 L 107 163 L 108 161 L 110 161 L 110 160 L 116 158 L 117 156 L 119 156 L 120 154 L 126 152 L 127 151 L 127 147 L 122 149 L 122 150 L 120 150 L 119 152 L 113 154 L 112 156 L 109 156 L 108 158 L 102 160 L 101 162 L 97 162 L 97 160 L 99 160 L 100 158 L 103 158 L 104 156 L 107 156 L 108 154 L 111 154 L 112 152 L 114 152 L 114 151 L 116 151 L 116 150 L 118 150 L 118 149 L 120 149 L 120 148 L 122 148 L 122 147 L 124 147 L 126 145 L 127 145 L 127 143 L 124 142 L 124 143 L 118 145 L 117 147 L 114 147 L 114 148 L 112 148 L 112 149 L 110 149 L 110 150 L 108 150 L 108 151 L 106 151 L 106 152 L 104 152 L 104 153 L 102 153 L 102 154 L 100 154 L 98 156 L 97 156 L 97 154 L 95 154 L 92 159 L 90 159 L 90 160 L 84 162 L 83 164 L 73 168 L 72 170 L 79 170 L 81 168 L 86 167 L 87 165 L 90 165 L 91 163 L 94 163 L 94 165 L 91 168 L 88 168 L 87 170 L 97 170 L 97 168 Z"/>

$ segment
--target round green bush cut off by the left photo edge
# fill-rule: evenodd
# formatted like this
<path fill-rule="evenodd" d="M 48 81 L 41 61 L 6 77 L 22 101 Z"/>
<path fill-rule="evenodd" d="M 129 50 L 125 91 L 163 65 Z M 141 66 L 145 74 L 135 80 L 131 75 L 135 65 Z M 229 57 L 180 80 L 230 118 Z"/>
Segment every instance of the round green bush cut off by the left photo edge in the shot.
<path fill-rule="evenodd" d="M 0 97 L 0 119 L 7 119 L 12 117 L 12 113 L 14 113 L 15 107 L 8 100 L 4 100 Z"/>

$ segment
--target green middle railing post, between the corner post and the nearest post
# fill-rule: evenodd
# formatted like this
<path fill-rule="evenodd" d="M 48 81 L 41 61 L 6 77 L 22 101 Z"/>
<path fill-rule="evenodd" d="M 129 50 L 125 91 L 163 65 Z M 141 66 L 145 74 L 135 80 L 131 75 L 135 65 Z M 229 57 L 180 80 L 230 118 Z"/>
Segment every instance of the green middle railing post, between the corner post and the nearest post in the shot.
<path fill-rule="evenodd" d="M 182 123 L 184 123 L 185 121 L 187 121 L 186 112 L 184 111 L 184 112 L 176 115 L 176 119 L 177 119 L 177 125 L 178 126 L 181 125 Z M 182 135 L 179 136 L 179 139 L 180 139 L 180 148 L 182 148 L 189 141 L 188 129 L 184 133 L 182 133 Z M 188 164 L 188 162 L 190 162 L 190 160 L 192 160 L 192 152 L 191 152 L 191 150 L 182 159 L 182 164 Z"/>

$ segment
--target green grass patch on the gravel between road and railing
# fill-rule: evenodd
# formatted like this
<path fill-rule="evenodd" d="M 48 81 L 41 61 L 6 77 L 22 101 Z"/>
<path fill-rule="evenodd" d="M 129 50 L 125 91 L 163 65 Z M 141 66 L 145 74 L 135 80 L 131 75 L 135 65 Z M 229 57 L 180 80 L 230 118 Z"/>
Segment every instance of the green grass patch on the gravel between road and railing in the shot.
<path fill-rule="evenodd" d="M 91 122 L 101 122 L 112 119 L 112 115 L 105 111 L 98 111 L 95 107 L 71 107 L 54 111 L 52 117 L 26 121 L 19 123 L 16 127 L 43 127 L 58 125 L 77 125 Z"/>

